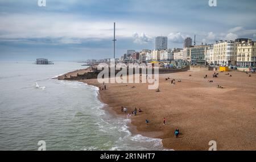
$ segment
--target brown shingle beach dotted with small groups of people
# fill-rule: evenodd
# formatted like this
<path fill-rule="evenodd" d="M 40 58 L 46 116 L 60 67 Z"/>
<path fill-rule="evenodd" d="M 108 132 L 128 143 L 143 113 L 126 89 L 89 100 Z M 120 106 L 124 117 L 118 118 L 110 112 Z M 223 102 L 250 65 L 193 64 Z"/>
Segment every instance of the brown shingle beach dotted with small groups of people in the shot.
<path fill-rule="evenodd" d="M 106 90 L 100 90 L 100 100 L 123 118 L 127 117 L 121 106 L 127 107 L 130 114 L 135 107 L 142 109 L 142 113 L 131 117 L 130 131 L 160 138 L 168 149 L 208 150 L 209 142 L 215 140 L 218 150 L 255 150 L 255 74 L 249 77 L 246 73 L 229 72 L 230 77 L 228 72 L 218 72 L 218 77 L 212 78 L 213 73 L 160 74 L 160 92 L 148 90 L 147 84 L 106 84 Z M 205 74 L 208 78 L 204 78 Z M 170 80 L 166 81 L 168 77 Z M 171 84 L 172 79 L 176 80 L 175 85 Z M 103 88 L 95 79 L 81 81 Z M 146 124 L 146 119 L 150 123 Z M 180 130 L 179 138 L 174 136 L 176 128 Z"/>

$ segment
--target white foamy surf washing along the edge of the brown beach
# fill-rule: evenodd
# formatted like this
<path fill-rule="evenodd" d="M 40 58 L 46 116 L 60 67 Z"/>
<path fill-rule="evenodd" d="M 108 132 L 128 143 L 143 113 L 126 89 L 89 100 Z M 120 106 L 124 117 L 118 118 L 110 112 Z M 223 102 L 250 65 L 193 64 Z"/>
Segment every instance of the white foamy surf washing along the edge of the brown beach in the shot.
<path fill-rule="evenodd" d="M 133 135 L 131 134 L 129 130 L 129 123 L 131 122 L 130 119 L 125 119 L 125 118 L 106 118 L 106 116 L 101 117 L 101 115 L 106 115 L 106 111 L 102 109 L 106 104 L 102 103 L 100 100 L 98 100 L 98 95 L 99 95 L 99 88 L 96 86 L 88 85 L 84 82 L 73 82 L 73 81 L 60 81 L 63 84 L 72 86 L 72 88 L 89 88 L 93 90 L 94 96 L 96 97 L 95 101 L 97 102 L 96 105 L 99 106 L 94 106 L 93 109 L 94 115 L 97 117 L 100 117 L 100 121 L 96 123 L 96 127 L 98 128 L 99 131 L 104 132 L 104 134 L 108 134 L 110 131 L 117 130 L 118 132 L 121 133 L 121 136 L 118 138 L 118 140 L 115 142 L 114 146 L 110 148 L 110 151 L 115 151 L 115 150 L 125 150 L 125 149 L 132 149 L 133 145 L 131 143 L 138 143 L 137 148 L 135 149 L 156 149 L 156 150 L 164 150 L 163 149 L 163 144 L 162 144 L 162 139 L 155 139 L 155 138 L 148 138 L 146 136 L 142 135 Z M 142 145 L 142 146 L 140 146 Z M 86 148 L 85 150 L 96 150 L 94 147 Z"/>

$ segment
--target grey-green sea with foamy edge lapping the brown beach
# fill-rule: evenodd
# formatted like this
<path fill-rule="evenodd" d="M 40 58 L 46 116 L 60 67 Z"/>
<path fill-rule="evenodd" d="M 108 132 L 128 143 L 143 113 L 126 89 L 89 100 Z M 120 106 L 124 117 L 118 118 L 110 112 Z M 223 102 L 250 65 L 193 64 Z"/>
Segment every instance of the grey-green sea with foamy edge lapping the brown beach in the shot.
<path fill-rule="evenodd" d="M 130 119 L 98 100 L 98 88 L 57 80 L 82 63 L 0 61 L 0 150 L 164 150 L 161 139 L 134 135 Z"/>

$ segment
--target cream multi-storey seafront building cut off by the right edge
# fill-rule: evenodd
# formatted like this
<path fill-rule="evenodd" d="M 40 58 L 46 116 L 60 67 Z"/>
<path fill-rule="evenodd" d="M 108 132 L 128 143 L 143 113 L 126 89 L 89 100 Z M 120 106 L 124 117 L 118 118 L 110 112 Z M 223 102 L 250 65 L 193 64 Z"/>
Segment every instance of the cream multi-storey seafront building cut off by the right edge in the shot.
<path fill-rule="evenodd" d="M 242 41 L 237 46 L 237 66 L 255 67 L 256 65 L 256 42 Z"/>

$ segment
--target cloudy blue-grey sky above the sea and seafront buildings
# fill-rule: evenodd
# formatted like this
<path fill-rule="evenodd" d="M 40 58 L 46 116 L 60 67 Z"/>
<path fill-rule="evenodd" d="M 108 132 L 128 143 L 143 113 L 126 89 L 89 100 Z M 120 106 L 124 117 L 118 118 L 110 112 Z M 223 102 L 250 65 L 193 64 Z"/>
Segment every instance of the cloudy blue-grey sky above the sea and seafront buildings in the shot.
<path fill-rule="evenodd" d="M 127 49 L 154 49 L 156 36 L 168 48 L 216 40 L 256 40 L 255 0 L 0 0 L 0 60 L 84 61 Z"/>

